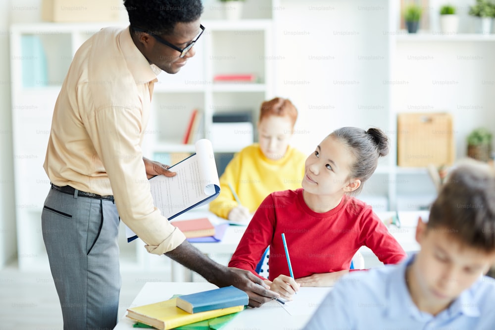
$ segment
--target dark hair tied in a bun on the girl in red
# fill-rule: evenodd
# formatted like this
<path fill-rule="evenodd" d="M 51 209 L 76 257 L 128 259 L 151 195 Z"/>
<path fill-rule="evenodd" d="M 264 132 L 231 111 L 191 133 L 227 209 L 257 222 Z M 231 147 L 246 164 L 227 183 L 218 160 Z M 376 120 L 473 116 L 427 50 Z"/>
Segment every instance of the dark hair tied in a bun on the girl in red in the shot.
<path fill-rule="evenodd" d="M 362 190 L 363 183 L 375 172 L 378 158 L 389 153 L 389 139 L 379 128 L 365 131 L 357 127 L 342 127 L 330 136 L 344 142 L 354 155 L 349 176 L 361 180 L 361 186 L 352 191 L 357 194 Z"/>

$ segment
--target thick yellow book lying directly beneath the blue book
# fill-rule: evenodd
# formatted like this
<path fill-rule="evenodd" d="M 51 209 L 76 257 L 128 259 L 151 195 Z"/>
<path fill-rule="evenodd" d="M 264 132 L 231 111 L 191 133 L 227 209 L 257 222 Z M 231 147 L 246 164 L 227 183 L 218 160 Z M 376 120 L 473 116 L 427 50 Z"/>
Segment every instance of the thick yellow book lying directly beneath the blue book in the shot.
<path fill-rule="evenodd" d="M 243 309 L 244 305 L 190 314 L 177 307 L 177 298 L 172 298 L 154 304 L 131 307 L 127 309 L 126 316 L 156 329 L 167 330 L 240 312 Z"/>

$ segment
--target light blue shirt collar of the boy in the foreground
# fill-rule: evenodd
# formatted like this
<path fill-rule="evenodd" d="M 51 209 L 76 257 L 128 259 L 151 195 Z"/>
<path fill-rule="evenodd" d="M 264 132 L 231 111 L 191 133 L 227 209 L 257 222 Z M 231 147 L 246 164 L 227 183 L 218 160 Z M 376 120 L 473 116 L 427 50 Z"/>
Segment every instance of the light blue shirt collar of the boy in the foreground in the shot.
<path fill-rule="evenodd" d="M 406 258 L 403 262 L 396 266 L 394 272 L 389 274 L 389 278 L 386 279 L 389 285 L 387 286 L 387 300 L 394 302 L 390 304 L 390 308 L 386 311 L 386 314 L 392 318 L 401 318 L 406 314 L 412 316 L 417 320 L 431 319 L 431 314 L 422 312 L 412 301 L 407 284 L 405 282 L 405 272 L 407 266 L 409 266 L 415 258 L 416 254 L 413 254 Z M 480 285 L 482 279 L 480 278 L 470 288 L 464 290 L 455 299 L 452 304 L 442 311 L 438 316 L 447 313 L 448 317 L 455 316 L 457 314 L 464 314 L 470 317 L 478 317 L 480 315 L 480 309 L 474 298 L 474 292 L 476 286 Z M 407 311 L 407 312 L 405 312 Z"/>

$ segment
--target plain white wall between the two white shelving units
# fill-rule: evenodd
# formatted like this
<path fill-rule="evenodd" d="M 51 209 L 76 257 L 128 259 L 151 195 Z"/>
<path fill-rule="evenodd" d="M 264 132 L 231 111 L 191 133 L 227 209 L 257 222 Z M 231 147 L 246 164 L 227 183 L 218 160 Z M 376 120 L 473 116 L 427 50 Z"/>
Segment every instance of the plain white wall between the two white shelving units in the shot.
<path fill-rule="evenodd" d="M 275 10 L 276 94 L 300 116 L 293 144 L 309 153 L 343 126 L 388 129 L 387 0 L 283 0 Z"/>

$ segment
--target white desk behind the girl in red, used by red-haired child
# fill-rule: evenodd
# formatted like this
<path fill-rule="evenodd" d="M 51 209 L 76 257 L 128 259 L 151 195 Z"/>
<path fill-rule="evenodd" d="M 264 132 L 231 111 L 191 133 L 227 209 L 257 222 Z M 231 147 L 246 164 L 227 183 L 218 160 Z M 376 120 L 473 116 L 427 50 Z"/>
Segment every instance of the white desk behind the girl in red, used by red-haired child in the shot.
<path fill-rule="evenodd" d="M 377 215 L 383 220 L 386 217 L 394 215 L 395 212 L 377 212 Z M 395 225 L 389 226 L 389 232 L 396 238 L 399 244 L 402 246 L 406 253 L 419 250 L 419 244 L 416 242 L 416 226 L 418 217 L 421 216 L 423 221 L 428 219 L 428 211 L 403 211 L 398 212 L 400 227 Z M 223 219 L 219 219 L 214 214 L 208 211 L 191 211 L 187 214 L 181 215 L 182 218 L 178 219 L 193 219 L 200 217 L 207 217 L 213 224 L 225 222 Z M 234 253 L 241 240 L 246 226 L 229 226 L 225 232 L 225 236 L 222 241 L 217 243 L 193 243 L 201 252 L 207 254 L 210 258 L 219 261 L 222 260 L 223 264 L 230 260 L 230 257 Z M 363 255 L 364 265 L 368 267 L 376 267 L 382 265 L 375 254 L 366 246 L 359 249 L 359 252 Z M 219 261 L 220 262 L 220 261 Z M 172 281 L 173 282 L 191 282 L 192 272 L 180 265 L 179 263 L 172 261 Z"/>

